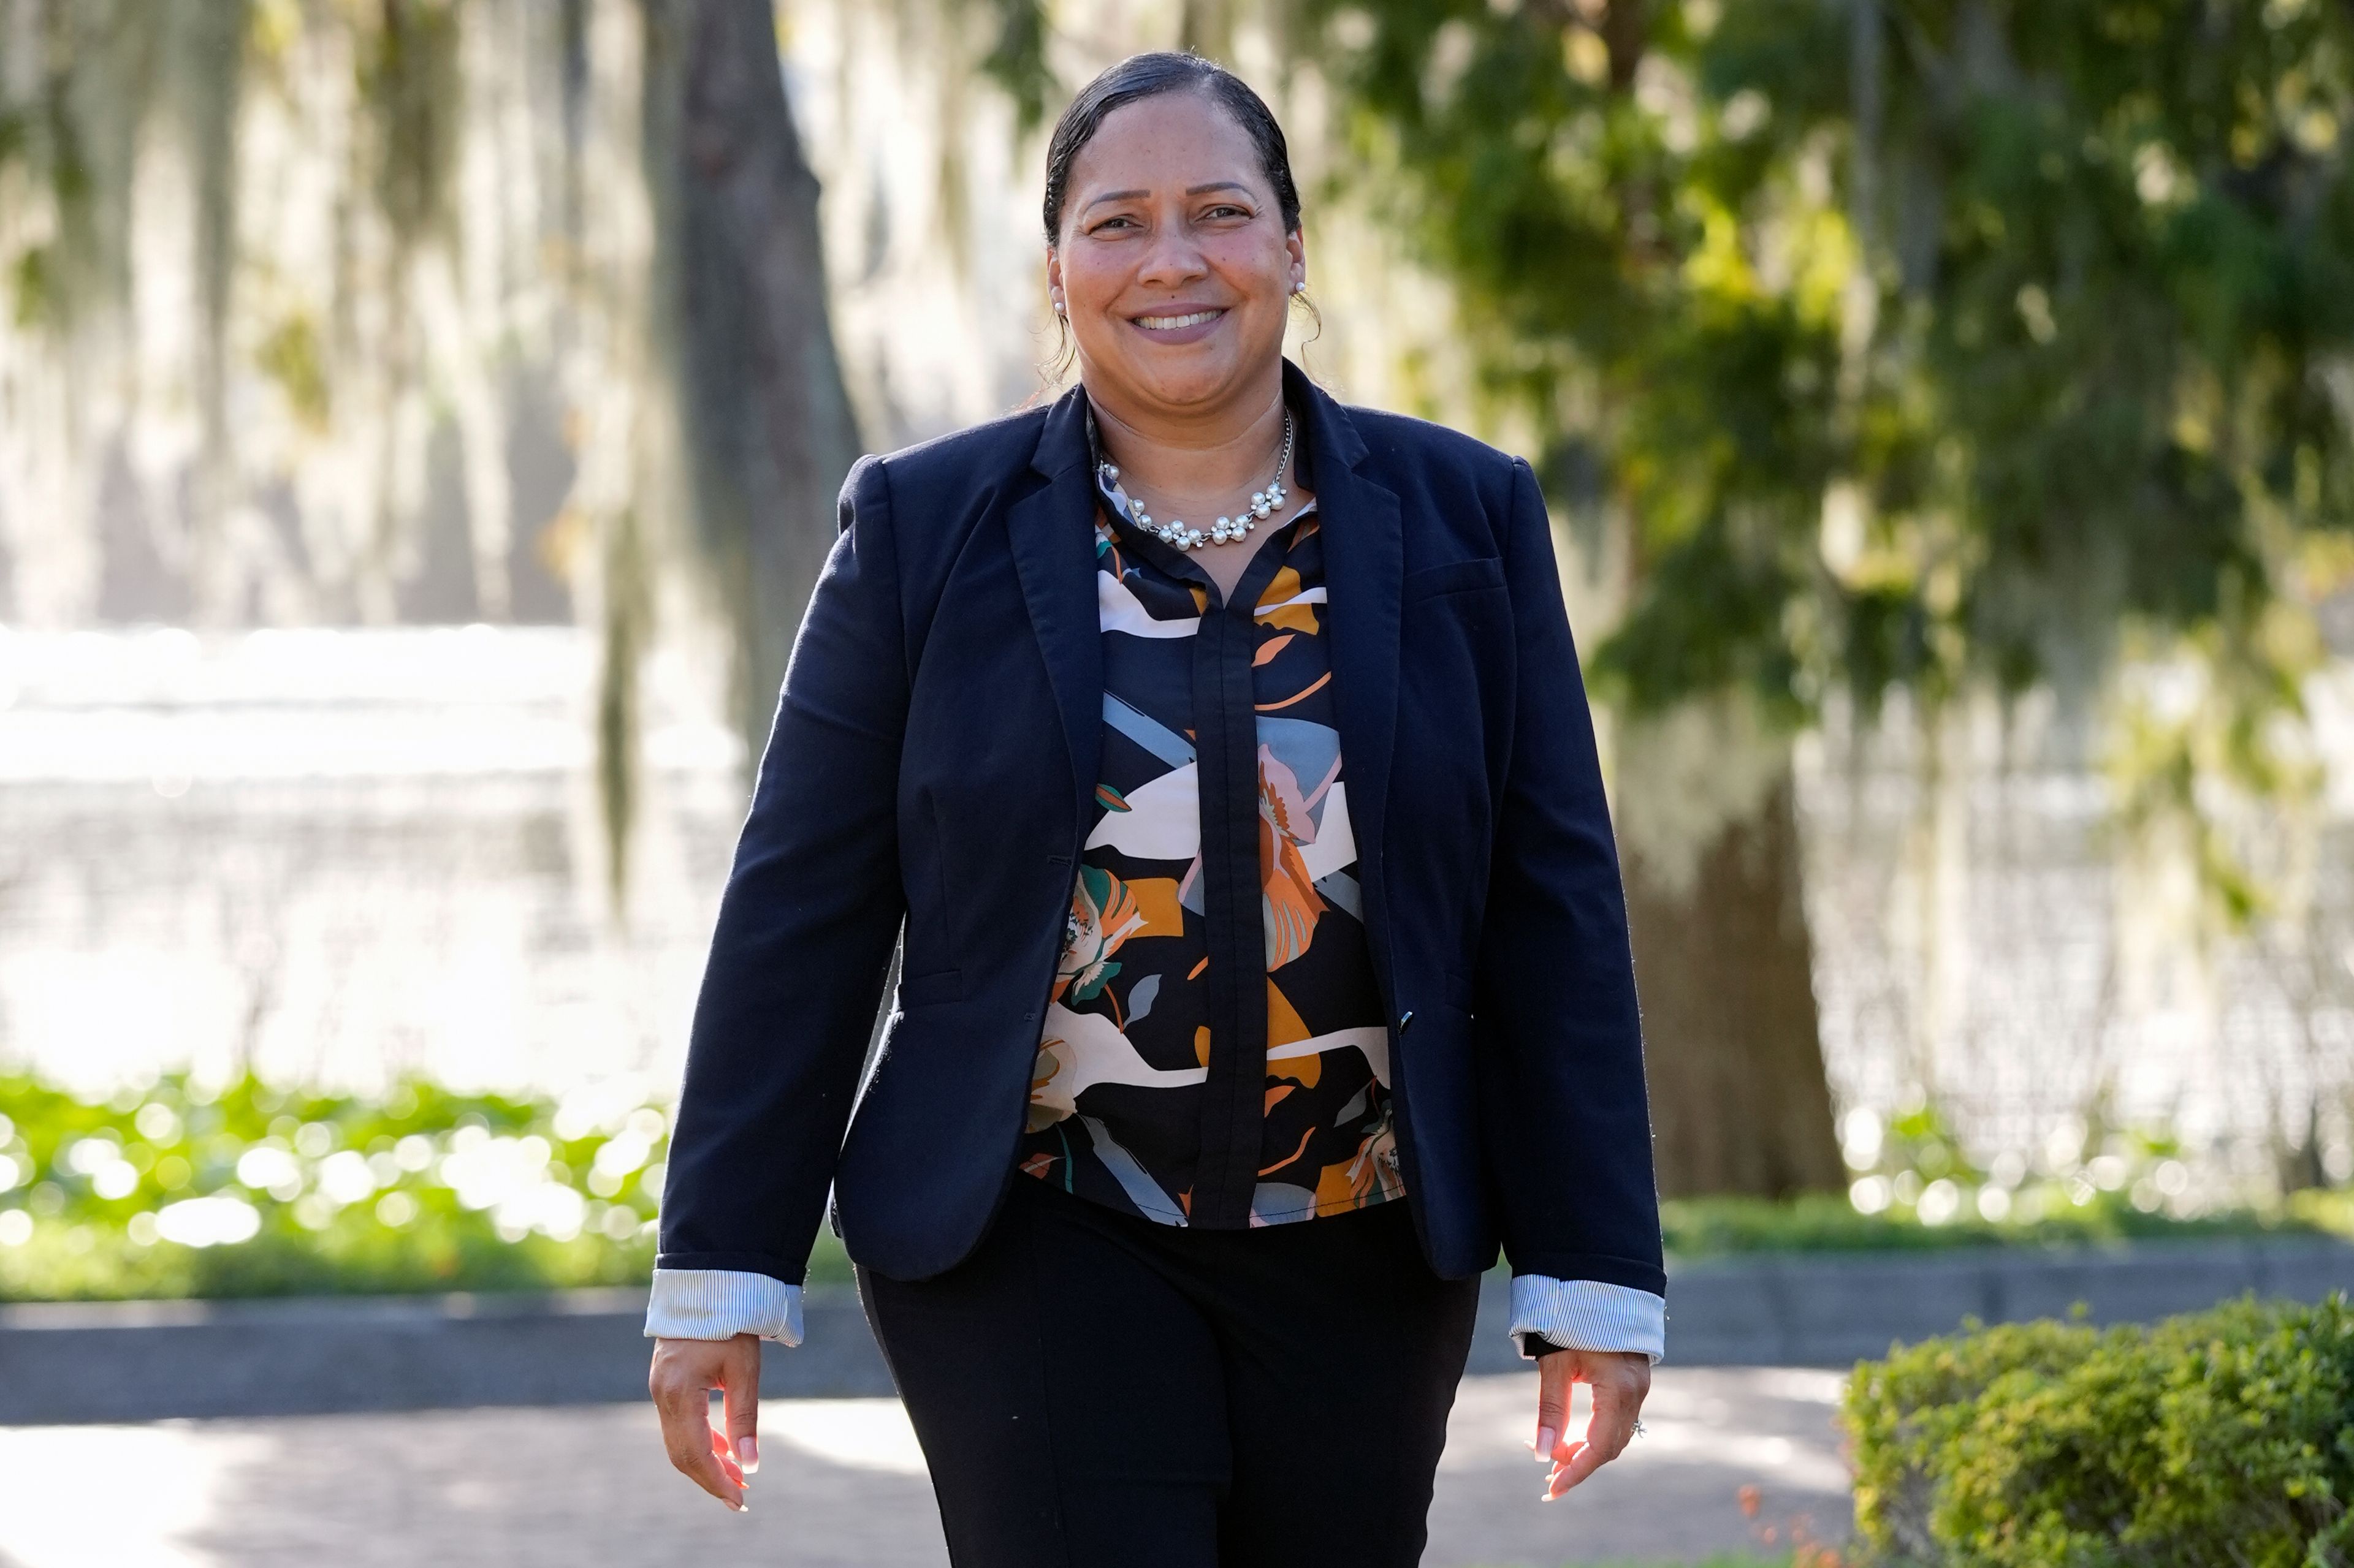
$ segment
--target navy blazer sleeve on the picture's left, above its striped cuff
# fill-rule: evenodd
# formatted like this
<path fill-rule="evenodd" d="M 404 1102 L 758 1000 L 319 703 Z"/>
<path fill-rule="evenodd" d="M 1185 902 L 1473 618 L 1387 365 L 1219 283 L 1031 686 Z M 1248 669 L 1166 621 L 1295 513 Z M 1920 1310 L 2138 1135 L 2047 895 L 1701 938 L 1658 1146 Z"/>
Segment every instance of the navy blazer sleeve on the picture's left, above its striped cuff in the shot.
<path fill-rule="evenodd" d="M 890 483 L 869 457 L 843 485 L 720 895 L 657 1269 L 800 1283 L 899 932 L 906 699 Z"/>

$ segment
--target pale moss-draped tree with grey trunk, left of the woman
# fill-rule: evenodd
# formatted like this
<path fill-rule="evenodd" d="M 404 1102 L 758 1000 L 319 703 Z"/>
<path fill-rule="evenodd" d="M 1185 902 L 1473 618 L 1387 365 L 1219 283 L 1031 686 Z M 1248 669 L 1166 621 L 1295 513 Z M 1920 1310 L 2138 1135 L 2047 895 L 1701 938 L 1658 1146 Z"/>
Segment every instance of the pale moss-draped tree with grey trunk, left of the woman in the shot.
<path fill-rule="evenodd" d="M 758 749 L 859 452 L 770 0 L 0 0 L 0 610 L 553 619 L 560 574 L 619 892 L 657 603 L 718 610 Z"/>

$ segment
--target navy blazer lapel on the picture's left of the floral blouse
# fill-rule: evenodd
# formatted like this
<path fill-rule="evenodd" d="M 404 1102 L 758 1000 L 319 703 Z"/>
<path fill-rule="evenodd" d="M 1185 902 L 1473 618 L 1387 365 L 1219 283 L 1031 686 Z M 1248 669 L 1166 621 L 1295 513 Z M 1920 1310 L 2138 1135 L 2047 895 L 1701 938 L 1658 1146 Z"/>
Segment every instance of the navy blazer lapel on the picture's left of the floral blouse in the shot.
<path fill-rule="evenodd" d="M 1095 610 L 1095 485 L 1088 480 L 1088 414 L 1080 396 L 1073 386 L 1048 410 L 1031 457 L 1031 469 L 1045 483 L 1012 504 L 1005 525 L 1048 685 L 1062 711 L 1062 739 L 1071 753 L 1071 808 L 1085 822 L 1104 723 L 1104 645 Z"/>

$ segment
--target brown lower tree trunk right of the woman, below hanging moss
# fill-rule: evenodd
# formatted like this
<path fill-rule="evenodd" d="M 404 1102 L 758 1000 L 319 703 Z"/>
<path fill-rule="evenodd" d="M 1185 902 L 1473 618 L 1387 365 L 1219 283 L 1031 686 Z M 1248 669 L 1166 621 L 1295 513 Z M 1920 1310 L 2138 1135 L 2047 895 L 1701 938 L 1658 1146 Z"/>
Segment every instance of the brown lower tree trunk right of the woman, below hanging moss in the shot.
<path fill-rule="evenodd" d="M 1843 1189 L 1789 742 L 1693 704 L 1629 725 L 1617 796 L 1660 1194 Z"/>

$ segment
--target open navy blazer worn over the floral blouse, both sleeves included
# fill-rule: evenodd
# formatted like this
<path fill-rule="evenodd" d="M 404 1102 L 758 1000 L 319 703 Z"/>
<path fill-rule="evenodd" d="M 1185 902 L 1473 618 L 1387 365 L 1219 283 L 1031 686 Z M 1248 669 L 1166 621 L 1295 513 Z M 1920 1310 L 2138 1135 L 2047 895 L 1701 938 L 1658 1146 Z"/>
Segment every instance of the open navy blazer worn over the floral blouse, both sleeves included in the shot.
<path fill-rule="evenodd" d="M 1537 480 L 1283 379 L 1422 1250 L 1462 1278 L 1502 1241 L 1516 1274 L 1664 1295 L 1627 911 Z M 850 1257 L 925 1278 L 1015 1175 L 1104 702 L 1080 398 L 843 485 L 694 1008 L 664 1269 L 800 1283 L 831 1184 Z"/>

